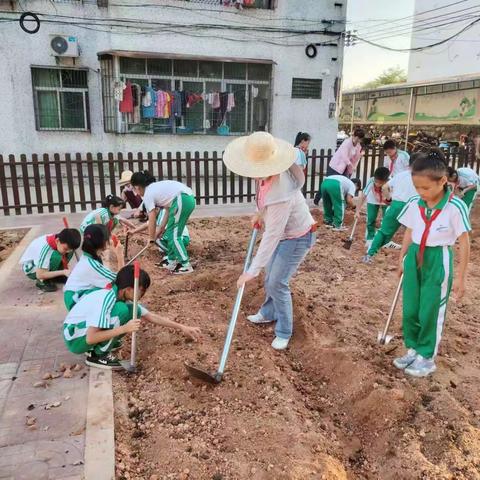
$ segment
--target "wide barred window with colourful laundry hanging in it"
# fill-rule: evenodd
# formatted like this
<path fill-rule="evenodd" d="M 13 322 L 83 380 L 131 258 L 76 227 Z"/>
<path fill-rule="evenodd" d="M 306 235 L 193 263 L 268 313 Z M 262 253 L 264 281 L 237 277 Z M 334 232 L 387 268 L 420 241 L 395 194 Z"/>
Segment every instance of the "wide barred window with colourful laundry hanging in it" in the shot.
<path fill-rule="evenodd" d="M 119 58 L 120 75 L 115 79 L 114 61 L 112 56 L 100 61 L 106 132 L 244 135 L 268 130 L 272 71 L 269 64 Z M 133 115 L 119 114 L 119 101 L 114 99 L 116 82 L 136 84 L 142 90 L 142 100 L 153 89 L 155 97 L 162 98 L 162 104 L 165 92 L 181 92 L 194 101 L 183 104 L 180 115 L 166 118 L 159 114 L 158 102 L 155 113 L 149 112 L 145 117 L 142 108 L 136 115 L 135 111 Z"/>

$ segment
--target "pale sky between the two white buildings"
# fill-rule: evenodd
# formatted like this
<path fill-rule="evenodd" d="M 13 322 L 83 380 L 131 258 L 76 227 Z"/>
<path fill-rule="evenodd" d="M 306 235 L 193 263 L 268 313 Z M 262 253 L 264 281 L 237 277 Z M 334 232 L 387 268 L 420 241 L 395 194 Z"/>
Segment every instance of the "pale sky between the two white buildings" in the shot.
<path fill-rule="evenodd" d="M 349 0 L 347 30 L 357 30 L 360 37 L 382 45 L 409 48 L 414 4 L 414 0 Z M 394 27 L 400 35 L 383 38 Z M 405 71 L 408 67 L 408 53 L 389 52 L 365 43 L 346 47 L 344 51 L 344 89 L 373 80 L 389 67 L 398 65 Z"/>

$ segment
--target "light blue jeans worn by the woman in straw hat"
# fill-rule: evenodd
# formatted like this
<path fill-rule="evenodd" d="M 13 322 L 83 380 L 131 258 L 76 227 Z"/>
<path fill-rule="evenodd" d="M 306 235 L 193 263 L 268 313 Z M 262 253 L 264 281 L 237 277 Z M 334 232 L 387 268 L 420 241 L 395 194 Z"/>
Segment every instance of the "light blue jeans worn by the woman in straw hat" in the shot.
<path fill-rule="evenodd" d="M 265 268 L 265 302 L 260 308 L 263 318 L 273 320 L 275 335 L 290 338 L 293 332 L 293 307 L 290 279 L 315 243 L 315 233 L 282 240 Z"/>

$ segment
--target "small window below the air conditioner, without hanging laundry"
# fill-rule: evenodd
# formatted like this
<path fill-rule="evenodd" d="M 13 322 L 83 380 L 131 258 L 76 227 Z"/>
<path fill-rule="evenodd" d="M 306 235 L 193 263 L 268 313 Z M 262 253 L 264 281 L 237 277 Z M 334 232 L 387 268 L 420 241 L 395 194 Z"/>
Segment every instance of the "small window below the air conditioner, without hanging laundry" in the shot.
<path fill-rule="evenodd" d="M 90 130 L 87 70 L 32 68 L 37 130 Z"/>

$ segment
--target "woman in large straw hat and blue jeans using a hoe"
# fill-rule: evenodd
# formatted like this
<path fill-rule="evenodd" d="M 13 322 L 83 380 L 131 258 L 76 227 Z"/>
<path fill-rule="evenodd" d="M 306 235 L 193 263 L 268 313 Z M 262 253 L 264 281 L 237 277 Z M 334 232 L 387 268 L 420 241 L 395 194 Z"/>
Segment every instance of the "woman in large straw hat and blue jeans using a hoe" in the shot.
<path fill-rule="evenodd" d="M 315 221 L 301 193 L 305 176 L 295 164 L 293 145 L 266 132 L 232 141 L 223 161 L 231 171 L 256 180 L 254 222 L 263 223 L 264 232 L 257 254 L 237 285 L 265 268 L 265 301 L 257 314 L 247 318 L 252 323 L 276 322 L 272 347 L 284 350 L 293 331 L 290 278 L 315 243 Z"/>

